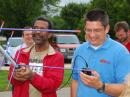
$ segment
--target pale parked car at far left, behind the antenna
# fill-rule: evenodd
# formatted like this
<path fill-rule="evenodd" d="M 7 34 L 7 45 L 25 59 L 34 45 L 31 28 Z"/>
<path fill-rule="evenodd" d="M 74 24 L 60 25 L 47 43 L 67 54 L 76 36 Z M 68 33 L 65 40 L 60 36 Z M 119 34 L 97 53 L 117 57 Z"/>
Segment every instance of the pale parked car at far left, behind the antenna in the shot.
<path fill-rule="evenodd" d="M 23 43 L 22 37 L 11 37 L 11 38 L 8 39 L 8 42 L 7 42 L 7 44 L 6 44 L 6 49 L 5 49 L 5 51 L 6 51 L 12 58 L 14 58 L 15 52 L 16 52 L 15 48 L 16 48 L 17 46 L 19 46 L 20 44 L 22 44 L 22 43 Z M 5 58 L 5 59 L 4 59 L 4 64 L 5 64 L 5 65 L 8 65 L 8 64 L 10 64 L 10 61 L 8 61 L 8 59 Z"/>

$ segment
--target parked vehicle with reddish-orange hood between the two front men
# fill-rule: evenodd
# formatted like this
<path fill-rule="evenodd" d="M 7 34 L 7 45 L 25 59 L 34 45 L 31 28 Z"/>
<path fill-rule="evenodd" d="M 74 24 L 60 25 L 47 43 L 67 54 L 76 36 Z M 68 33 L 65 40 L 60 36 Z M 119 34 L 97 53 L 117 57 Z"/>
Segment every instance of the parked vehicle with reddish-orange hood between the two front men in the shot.
<path fill-rule="evenodd" d="M 55 34 L 54 41 L 65 59 L 72 59 L 74 50 L 80 45 L 75 34 Z"/>

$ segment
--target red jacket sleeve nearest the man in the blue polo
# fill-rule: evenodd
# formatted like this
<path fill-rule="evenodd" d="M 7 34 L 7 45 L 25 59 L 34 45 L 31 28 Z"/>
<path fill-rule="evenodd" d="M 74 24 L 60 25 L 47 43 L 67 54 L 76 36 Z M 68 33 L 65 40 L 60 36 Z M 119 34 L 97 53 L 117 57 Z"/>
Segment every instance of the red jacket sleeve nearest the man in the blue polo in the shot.
<path fill-rule="evenodd" d="M 56 56 L 54 60 L 52 61 L 53 66 L 64 68 L 63 55 Z M 43 77 L 35 73 L 31 83 L 42 93 L 51 93 L 58 89 L 63 81 L 63 77 L 63 69 L 49 69 Z"/>

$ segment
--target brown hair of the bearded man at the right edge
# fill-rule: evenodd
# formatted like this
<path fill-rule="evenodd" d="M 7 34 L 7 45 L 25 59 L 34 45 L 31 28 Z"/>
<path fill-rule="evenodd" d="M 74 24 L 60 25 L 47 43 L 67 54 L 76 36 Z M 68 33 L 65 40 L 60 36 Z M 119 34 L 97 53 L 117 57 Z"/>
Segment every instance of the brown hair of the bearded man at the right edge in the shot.
<path fill-rule="evenodd" d="M 125 32 L 129 30 L 129 24 L 126 21 L 119 21 L 114 26 L 114 31 L 117 32 L 121 29 L 124 29 Z"/>

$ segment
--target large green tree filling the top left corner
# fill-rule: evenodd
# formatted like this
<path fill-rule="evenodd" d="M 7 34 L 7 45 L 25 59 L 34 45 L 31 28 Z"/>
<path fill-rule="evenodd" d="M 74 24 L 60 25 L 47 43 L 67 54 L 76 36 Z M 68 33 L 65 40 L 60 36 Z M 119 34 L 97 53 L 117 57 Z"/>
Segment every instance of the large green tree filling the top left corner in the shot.
<path fill-rule="evenodd" d="M 31 25 L 37 16 L 47 16 L 48 10 L 60 0 L 0 0 L 0 19 L 4 27 L 22 28 Z M 6 35 L 8 33 L 5 33 Z M 16 33 L 16 35 L 20 35 Z"/>

